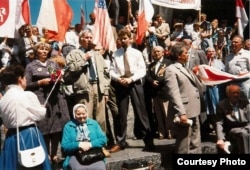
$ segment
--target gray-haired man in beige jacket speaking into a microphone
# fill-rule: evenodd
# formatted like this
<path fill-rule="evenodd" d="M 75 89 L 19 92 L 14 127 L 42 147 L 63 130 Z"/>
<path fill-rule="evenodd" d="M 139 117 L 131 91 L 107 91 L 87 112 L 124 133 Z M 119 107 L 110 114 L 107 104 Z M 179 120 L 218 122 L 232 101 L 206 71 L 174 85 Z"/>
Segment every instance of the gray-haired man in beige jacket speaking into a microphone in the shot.
<path fill-rule="evenodd" d="M 105 102 L 109 95 L 109 72 L 99 51 L 93 50 L 93 35 L 90 30 L 79 34 L 80 48 L 66 56 L 64 80 L 73 85 L 75 102 L 88 107 L 89 117 L 97 120 L 106 131 Z"/>

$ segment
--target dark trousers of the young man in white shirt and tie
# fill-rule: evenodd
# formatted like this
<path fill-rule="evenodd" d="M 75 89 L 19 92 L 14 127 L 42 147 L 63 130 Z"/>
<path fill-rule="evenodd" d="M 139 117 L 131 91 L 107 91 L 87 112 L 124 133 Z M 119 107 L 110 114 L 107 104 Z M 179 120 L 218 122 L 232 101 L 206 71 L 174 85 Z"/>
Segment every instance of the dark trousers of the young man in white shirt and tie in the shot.
<path fill-rule="evenodd" d="M 140 129 L 140 134 L 143 135 L 144 142 L 152 140 L 152 134 L 148 119 L 148 114 L 145 107 L 143 86 L 140 81 L 133 82 L 129 87 L 124 87 L 120 84 L 116 85 L 116 99 L 119 114 L 117 116 L 117 124 L 114 125 L 117 130 L 117 143 L 126 146 L 127 134 L 127 116 L 129 108 L 129 98 L 131 99 L 135 117 L 137 117 L 137 129 Z"/>

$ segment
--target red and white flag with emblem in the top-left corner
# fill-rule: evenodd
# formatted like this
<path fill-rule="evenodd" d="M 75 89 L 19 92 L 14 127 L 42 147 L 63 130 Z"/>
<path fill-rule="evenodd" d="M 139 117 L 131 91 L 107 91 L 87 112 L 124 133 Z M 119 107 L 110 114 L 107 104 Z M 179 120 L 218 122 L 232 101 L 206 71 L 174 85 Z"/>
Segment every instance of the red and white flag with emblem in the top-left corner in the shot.
<path fill-rule="evenodd" d="M 24 24 L 30 24 L 28 0 L 2 0 L 0 3 L 0 37 L 15 38 Z"/>

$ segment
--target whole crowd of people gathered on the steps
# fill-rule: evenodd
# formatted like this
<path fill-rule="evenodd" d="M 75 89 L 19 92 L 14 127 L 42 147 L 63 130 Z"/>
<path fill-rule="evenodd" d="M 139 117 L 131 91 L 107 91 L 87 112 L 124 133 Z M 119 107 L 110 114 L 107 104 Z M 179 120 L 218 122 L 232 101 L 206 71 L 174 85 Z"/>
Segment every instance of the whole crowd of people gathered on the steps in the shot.
<path fill-rule="evenodd" d="M 175 138 L 176 153 L 201 153 L 202 137 L 215 132 L 218 148 L 223 150 L 229 140 L 234 146 L 245 146 L 235 147 L 235 153 L 250 153 L 246 144 L 250 78 L 229 82 L 229 86 L 208 86 L 195 74 L 196 66 L 202 64 L 233 75 L 249 73 L 250 41 L 237 35 L 237 27 L 227 26 L 226 20 L 207 21 L 204 13 L 200 22 L 187 16 L 185 21 L 179 18 L 172 23 L 156 15 L 138 45 L 138 14 L 129 24 L 121 16 L 113 25 L 117 50 L 111 52 L 93 43 L 95 14 L 89 17 L 91 22 L 84 28 L 80 24 L 69 27 L 64 42 L 49 39 L 46 28 L 40 35 L 36 26 L 28 24 L 19 29 L 18 38 L 3 38 L 0 115 L 7 134 L 0 169 L 13 165 L 8 163 L 10 157 L 16 160 L 15 167 L 18 164 L 17 151 L 6 153 L 10 140 L 15 142 L 11 139 L 16 126 L 13 114 L 22 115 L 18 125 L 24 134 L 37 124 L 48 154 L 46 161 L 58 163 L 61 144 L 65 168 L 77 169 L 83 166 L 73 155 L 79 148 L 100 147 L 112 154 L 127 147 L 130 102 L 134 135 L 144 141 L 146 151 L 155 148 L 156 137 Z M 11 77 L 6 78 L 8 75 Z M 19 91 L 11 93 L 14 89 Z M 17 97 L 19 93 L 23 98 Z M 9 108 L 8 102 L 17 102 L 20 108 Z M 106 156 L 110 154 L 106 152 Z M 102 161 L 89 166 L 105 169 Z"/>

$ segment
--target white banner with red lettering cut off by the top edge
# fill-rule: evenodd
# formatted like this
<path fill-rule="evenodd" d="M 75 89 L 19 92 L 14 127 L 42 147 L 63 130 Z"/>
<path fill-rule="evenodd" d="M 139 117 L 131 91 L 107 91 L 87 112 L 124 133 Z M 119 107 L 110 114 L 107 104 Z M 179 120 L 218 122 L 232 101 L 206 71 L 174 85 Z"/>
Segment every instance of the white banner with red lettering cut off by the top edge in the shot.
<path fill-rule="evenodd" d="M 152 4 L 175 9 L 201 9 L 201 0 L 151 0 Z"/>

